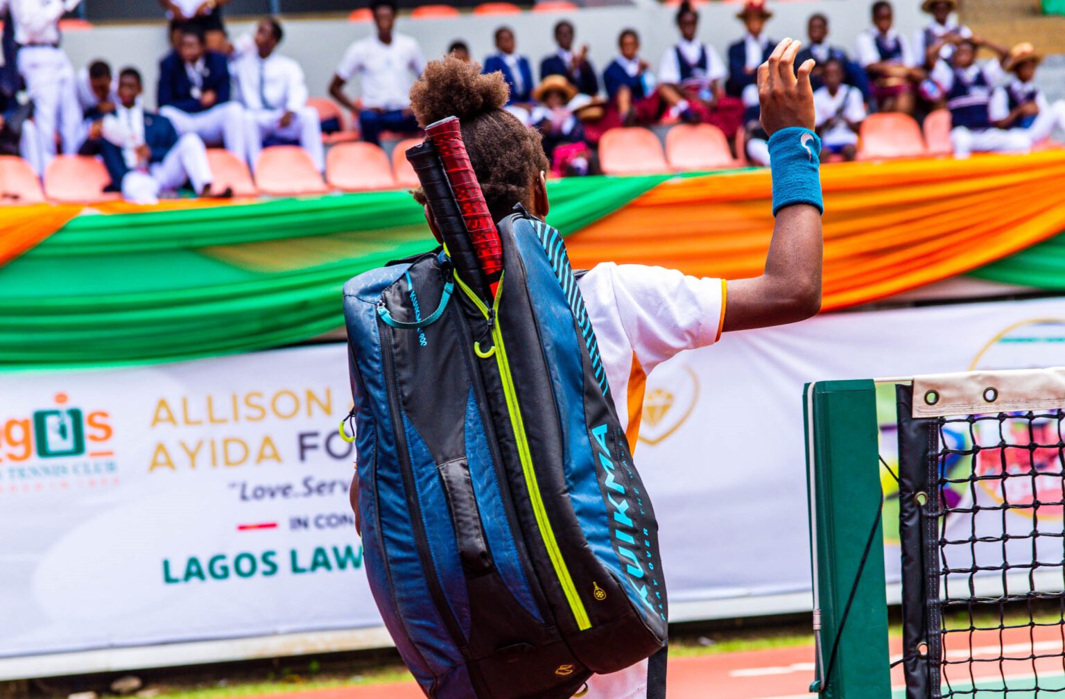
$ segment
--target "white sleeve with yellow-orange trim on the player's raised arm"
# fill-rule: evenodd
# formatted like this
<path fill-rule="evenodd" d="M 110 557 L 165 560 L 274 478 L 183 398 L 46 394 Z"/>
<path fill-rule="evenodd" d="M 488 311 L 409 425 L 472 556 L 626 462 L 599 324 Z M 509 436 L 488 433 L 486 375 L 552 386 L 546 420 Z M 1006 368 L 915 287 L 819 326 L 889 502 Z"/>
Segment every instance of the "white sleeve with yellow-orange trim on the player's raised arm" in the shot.
<path fill-rule="evenodd" d="M 608 269 L 601 270 L 600 267 Z M 725 282 L 640 264 L 600 265 L 610 275 L 618 316 L 648 373 L 684 349 L 718 341 L 724 321 Z"/>

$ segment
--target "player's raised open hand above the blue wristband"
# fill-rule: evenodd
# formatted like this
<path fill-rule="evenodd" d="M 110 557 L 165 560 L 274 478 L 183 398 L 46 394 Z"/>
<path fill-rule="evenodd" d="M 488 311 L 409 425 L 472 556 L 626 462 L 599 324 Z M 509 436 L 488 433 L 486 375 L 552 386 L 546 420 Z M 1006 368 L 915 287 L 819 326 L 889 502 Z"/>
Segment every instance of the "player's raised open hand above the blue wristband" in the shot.
<path fill-rule="evenodd" d="M 797 77 L 794 61 L 801 46 L 802 42 L 786 38 L 758 67 L 761 127 L 769 135 L 788 127 L 814 129 L 814 88 L 809 84 L 809 74 L 816 63 L 813 59 L 803 63 Z"/>

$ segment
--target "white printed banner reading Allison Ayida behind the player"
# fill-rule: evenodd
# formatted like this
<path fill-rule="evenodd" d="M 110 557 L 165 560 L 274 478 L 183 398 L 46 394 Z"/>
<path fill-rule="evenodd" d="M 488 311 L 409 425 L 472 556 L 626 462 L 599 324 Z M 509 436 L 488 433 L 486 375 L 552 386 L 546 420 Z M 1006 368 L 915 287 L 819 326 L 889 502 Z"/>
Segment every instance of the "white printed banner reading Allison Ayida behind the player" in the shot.
<path fill-rule="evenodd" d="M 1058 299 L 840 313 L 662 364 L 636 461 L 671 599 L 809 588 L 805 381 L 1054 364 Z M 378 625 L 346 367 L 335 344 L 0 374 L 0 656 Z"/>

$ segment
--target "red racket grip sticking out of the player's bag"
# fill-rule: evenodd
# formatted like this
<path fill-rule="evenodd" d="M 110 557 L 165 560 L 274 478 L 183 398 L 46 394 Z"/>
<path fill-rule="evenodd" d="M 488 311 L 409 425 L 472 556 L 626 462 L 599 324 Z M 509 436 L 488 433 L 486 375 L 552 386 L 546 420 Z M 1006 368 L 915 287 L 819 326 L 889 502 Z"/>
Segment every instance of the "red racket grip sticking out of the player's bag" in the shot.
<path fill-rule="evenodd" d="M 452 185 L 455 202 L 465 222 L 466 231 L 473 242 L 473 248 L 480 261 L 480 269 L 489 282 L 494 282 L 503 272 L 503 244 L 499 242 L 499 231 L 488 211 L 488 204 L 480 191 L 480 183 L 470 164 L 465 144 L 462 143 L 462 131 L 457 117 L 448 116 L 436 124 L 425 127 L 425 133 L 437 148 L 437 155 L 447 174 Z"/>

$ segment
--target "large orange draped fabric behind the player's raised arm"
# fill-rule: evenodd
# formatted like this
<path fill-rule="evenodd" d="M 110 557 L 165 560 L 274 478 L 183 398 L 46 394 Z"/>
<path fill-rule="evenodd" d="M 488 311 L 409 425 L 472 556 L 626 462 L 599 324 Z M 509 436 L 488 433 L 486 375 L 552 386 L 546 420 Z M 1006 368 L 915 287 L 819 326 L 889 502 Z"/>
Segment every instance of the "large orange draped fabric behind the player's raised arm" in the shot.
<path fill-rule="evenodd" d="M 1065 230 L 1065 150 L 965 161 L 838 163 L 824 191 L 823 310 L 946 279 Z M 761 274 L 770 175 L 667 181 L 567 238 L 574 267 L 659 264 L 701 277 Z"/>

